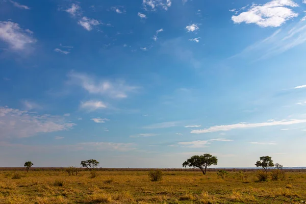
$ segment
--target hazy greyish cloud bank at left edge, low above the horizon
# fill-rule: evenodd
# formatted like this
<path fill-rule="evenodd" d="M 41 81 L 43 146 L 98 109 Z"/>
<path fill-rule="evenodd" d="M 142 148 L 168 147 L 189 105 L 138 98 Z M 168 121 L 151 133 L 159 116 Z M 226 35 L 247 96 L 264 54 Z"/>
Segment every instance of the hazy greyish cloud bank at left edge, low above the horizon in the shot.
<path fill-rule="evenodd" d="M 0 107 L 1 138 L 25 138 L 39 133 L 66 131 L 74 125 L 60 116 L 38 115 L 29 111 Z"/>

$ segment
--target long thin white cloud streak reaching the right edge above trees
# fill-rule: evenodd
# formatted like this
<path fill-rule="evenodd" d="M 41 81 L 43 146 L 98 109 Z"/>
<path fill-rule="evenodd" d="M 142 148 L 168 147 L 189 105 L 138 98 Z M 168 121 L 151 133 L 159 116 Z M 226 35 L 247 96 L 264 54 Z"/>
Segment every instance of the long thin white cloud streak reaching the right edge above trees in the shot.
<path fill-rule="evenodd" d="M 298 123 L 306 123 L 306 119 L 293 119 L 293 120 L 281 120 L 281 121 L 272 121 L 272 122 L 262 122 L 262 123 L 238 123 L 230 125 L 217 125 L 211 126 L 208 129 L 203 130 L 193 130 L 191 133 L 201 134 L 201 133 L 213 133 L 219 131 L 230 131 L 234 129 L 244 129 L 252 127 L 264 127 L 264 126 L 274 126 L 274 125 L 291 125 Z"/>

